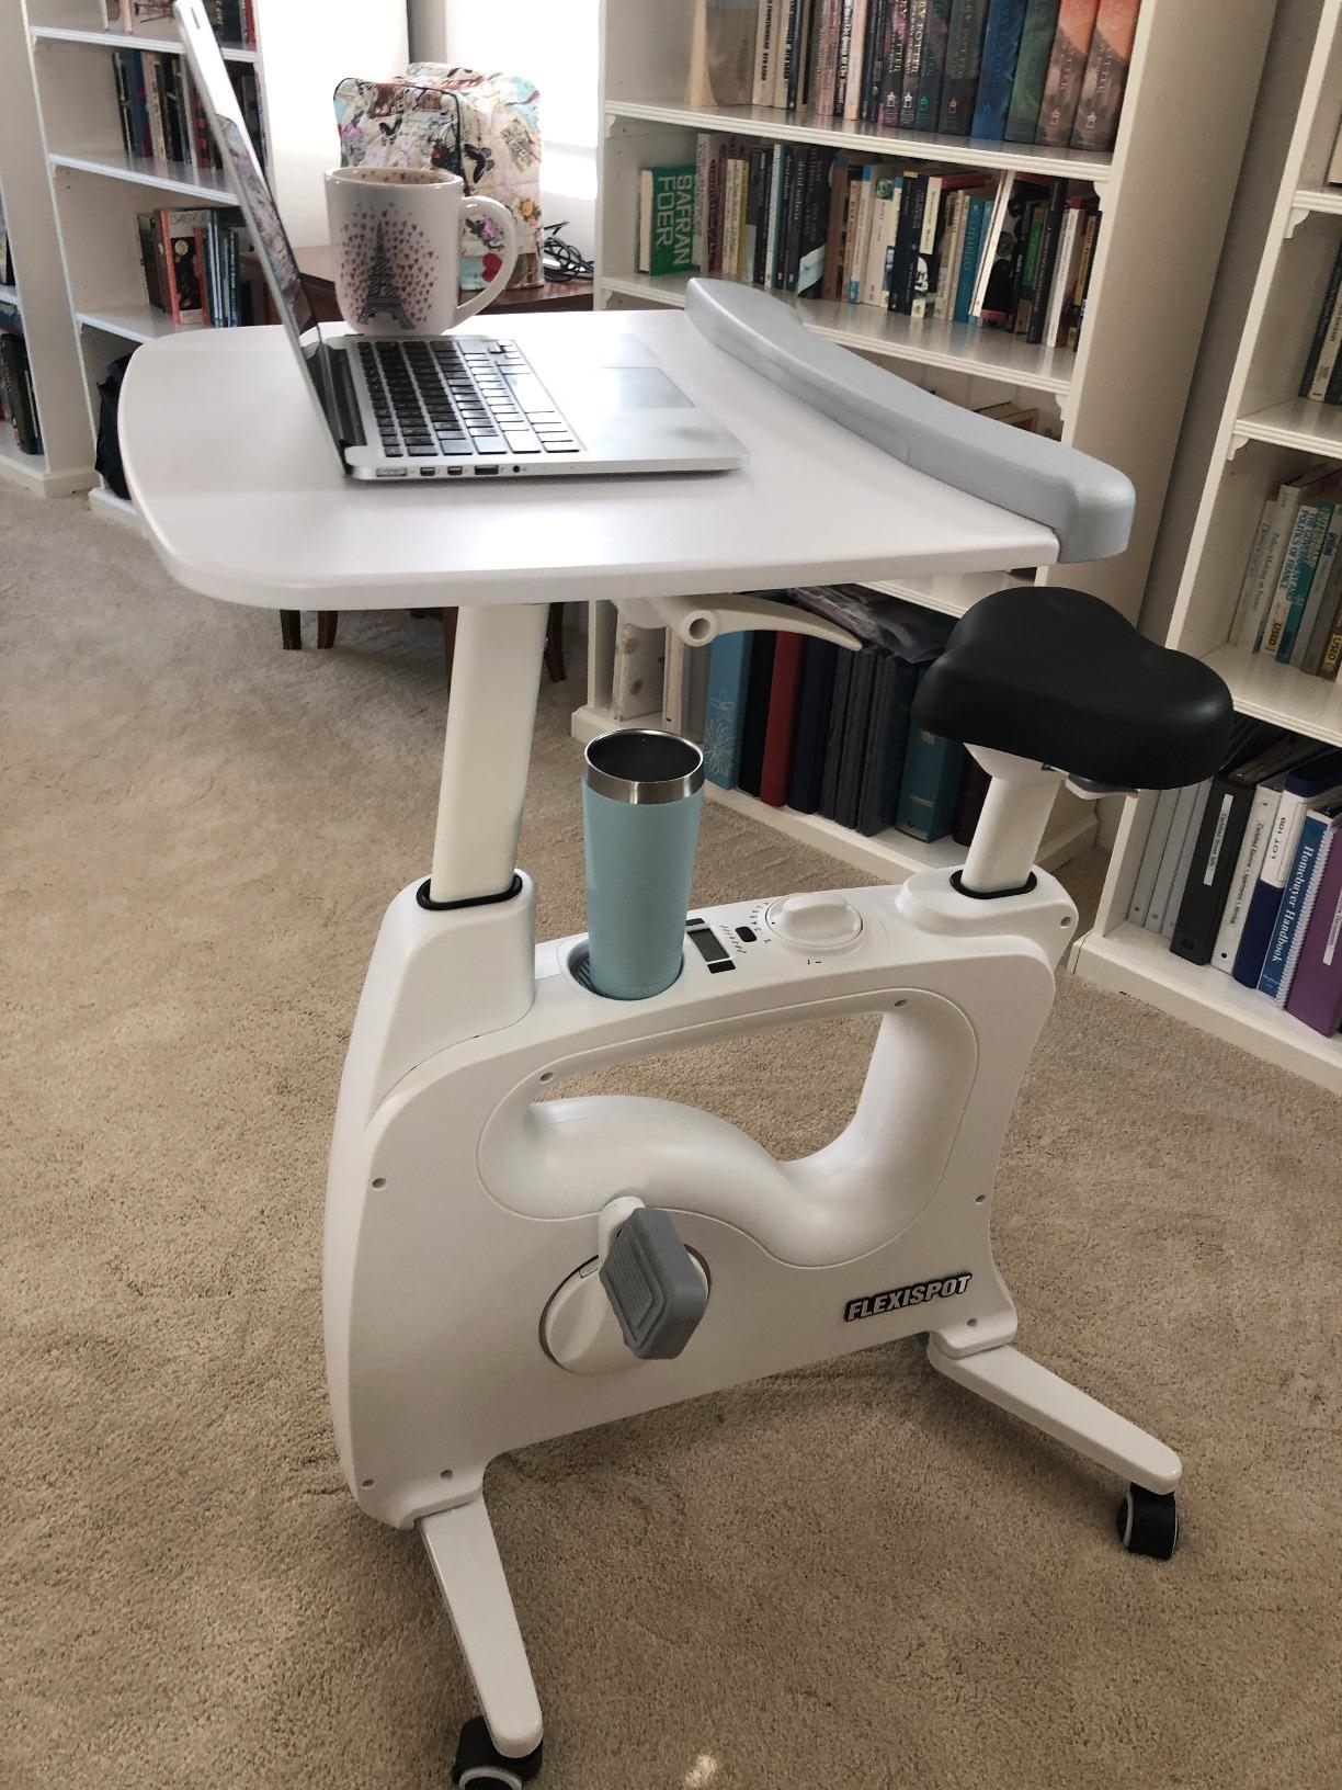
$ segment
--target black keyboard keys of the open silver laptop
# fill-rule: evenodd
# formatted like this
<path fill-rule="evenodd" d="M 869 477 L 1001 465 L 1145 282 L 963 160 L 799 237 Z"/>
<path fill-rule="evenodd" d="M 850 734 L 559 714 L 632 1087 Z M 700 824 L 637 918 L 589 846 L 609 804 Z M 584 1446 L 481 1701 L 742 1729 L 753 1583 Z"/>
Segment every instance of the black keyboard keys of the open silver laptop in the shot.
<path fill-rule="evenodd" d="M 365 337 L 358 356 L 388 460 L 578 453 L 573 430 L 512 342 Z"/>

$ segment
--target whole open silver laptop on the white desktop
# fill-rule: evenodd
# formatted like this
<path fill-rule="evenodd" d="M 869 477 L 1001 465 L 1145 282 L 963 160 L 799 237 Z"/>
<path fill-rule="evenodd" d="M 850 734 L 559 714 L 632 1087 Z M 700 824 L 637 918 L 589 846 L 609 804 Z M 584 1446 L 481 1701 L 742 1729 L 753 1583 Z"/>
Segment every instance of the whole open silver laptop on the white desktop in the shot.
<path fill-rule="evenodd" d="M 642 344 L 574 319 L 528 358 L 481 335 L 322 333 L 200 0 L 177 0 L 200 100 L 340 462 L 360 480 L 710 473 L 743 444 Z"/>

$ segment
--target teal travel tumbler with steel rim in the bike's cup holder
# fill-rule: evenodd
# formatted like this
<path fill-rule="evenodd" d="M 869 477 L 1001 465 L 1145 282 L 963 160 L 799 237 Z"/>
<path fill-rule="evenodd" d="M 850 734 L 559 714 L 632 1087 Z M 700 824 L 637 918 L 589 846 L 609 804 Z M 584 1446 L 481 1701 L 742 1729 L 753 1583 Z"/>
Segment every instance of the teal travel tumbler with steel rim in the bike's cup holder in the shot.
<path fill-rule="evenodd" d="M 614 1001 L 680 976 L 703 754 L 678 734 L 601 734 L 583 764 L 589 981 Z"/>

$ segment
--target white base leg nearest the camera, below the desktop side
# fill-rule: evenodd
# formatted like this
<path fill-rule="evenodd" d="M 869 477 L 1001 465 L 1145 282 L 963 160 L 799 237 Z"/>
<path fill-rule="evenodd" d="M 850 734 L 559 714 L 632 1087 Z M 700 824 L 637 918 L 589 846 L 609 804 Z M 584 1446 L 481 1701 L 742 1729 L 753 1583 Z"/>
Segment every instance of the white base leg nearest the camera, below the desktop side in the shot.
<path fill-rule="evenodd" d="M 420 1516 L 433 1573 L 490 1740 L 512 1760 L 540 1745 L 540 1702 L 483 1498 Z"/>

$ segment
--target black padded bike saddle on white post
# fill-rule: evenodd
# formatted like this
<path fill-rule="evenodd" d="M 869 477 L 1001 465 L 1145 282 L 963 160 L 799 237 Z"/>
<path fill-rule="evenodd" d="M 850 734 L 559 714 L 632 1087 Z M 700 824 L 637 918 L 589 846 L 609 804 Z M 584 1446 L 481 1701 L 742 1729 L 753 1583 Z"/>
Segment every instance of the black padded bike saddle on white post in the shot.
<path fill-rule="evenodd" d="M 1201 659 L 1084 591 L 984 596 L 913 702 L 918 727 L 1117 789 L 1181 789 L 1226 763 L 1235 707 Z"/>

